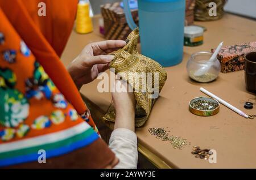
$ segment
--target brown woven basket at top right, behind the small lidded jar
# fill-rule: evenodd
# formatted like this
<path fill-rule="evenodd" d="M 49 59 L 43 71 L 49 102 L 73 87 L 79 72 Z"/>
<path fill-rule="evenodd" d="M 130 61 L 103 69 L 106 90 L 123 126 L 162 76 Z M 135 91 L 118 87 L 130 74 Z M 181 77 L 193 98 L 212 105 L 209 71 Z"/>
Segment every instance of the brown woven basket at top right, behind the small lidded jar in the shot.
<path fill-rule="evenodd" d="M 210 21 L 221 19 L 224 15 L 224 5 L 228 0 L 196 0 L 194 18 L 195 20 L 200 21 Z M 210 16 L 209 10 L 212 7 L 209 7 L 210 2 L 215 2 L 217 5 L 217 15 Z"/>

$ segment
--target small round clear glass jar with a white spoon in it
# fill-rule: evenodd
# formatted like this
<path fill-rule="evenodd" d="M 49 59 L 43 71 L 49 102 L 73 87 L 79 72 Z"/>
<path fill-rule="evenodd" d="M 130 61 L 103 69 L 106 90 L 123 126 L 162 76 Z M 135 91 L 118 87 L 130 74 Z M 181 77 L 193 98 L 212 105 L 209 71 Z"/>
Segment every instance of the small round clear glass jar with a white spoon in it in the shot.
<path fill-rule="evenodd" d="M 190 78 L 200 83 L 212 82 L 218 77 L 221 70 L 217 58 L 209 60 L 210 52 L 197 52 L 192 54 L 187 62 L 187 72 Z"/>

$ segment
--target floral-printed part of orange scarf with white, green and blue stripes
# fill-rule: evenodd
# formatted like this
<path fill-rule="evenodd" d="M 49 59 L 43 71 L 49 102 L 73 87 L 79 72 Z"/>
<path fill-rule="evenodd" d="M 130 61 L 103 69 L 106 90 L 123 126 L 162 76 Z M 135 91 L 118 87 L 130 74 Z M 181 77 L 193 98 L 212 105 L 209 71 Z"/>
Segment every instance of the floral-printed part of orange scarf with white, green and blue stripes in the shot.
<path fill-rule="evenodd" d="M 0 19 L 0 167 L 36 161 L 40 149 L 51 158 L 102 141 L 89 110 L 79 115 L 59 91 L 1 10 L 1 1 Z M 91 151 L 106 165 L 114 154 L 100 144 Z"/>

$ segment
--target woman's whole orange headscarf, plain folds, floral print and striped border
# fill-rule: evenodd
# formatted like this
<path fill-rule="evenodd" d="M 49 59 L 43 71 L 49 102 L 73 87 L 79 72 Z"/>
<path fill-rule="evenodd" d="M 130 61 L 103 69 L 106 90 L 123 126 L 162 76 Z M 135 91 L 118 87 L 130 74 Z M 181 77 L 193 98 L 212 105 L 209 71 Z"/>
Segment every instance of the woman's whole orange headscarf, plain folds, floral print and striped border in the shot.
<path fill-rule="evenodd" d="M 104 168 L 114 153 L 93 131 L 97 128 L 89 110 L 56 54 L 67 42 L 73 19 L 60 15 L 69 32 L 52 25 L 56 35 L 51 33 L 44 23 L 58 21 L 53 12 L 59 7 L 40 2 L 49 5 L 47 20 L 31 16 L 38 7 L 26 5 L 27 0 L 0 0 L 0 167 Z M 77 2 L 59 2 L 74 18 L 75 10 L 69 8 Z M 50 163 L 37 162 L 39 150 L 46 151 Z"/>

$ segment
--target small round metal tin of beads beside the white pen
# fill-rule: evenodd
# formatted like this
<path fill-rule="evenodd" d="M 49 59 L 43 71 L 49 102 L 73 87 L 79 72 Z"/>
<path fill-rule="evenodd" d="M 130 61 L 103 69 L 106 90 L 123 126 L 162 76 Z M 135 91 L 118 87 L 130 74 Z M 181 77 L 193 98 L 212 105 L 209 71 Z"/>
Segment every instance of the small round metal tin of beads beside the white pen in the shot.
<path fill-rule="evenodd" d="M 196 100 L 206 100 L 206 101 L 210 101 L 210 102 L 215 102 L 216 104 L 218 104 L 217 108 L 215 109 L 210 109 L 210 110 L 199 110 L 199 109 L 195 109 L 192 108 L 191 103 L 196 101 Z M 193 98 L 191 101 L 189 101 L 189 110 L 191 113 L 196 114 L 196 115 L 200 115 L 200 116 L 210 116 L 210 115 L 214 115 L 217 114 L 220 110 L 220 104 L 218 103 L 217 100 L 215 100 L 214 98 L 211 97 L 196 97 Z"/>

